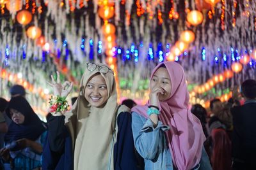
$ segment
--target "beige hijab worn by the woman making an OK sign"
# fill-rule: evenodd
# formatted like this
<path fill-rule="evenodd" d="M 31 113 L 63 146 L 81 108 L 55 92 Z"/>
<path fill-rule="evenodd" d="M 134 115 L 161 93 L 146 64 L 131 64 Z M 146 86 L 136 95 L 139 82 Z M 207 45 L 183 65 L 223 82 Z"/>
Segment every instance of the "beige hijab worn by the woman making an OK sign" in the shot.
<path fill-rule="evenodd" d="M 113 145 L 118 131 L 115 120 L 118 113 L 129 111 L 124 106 L 116 111 L 118 105 L 114 74 L 110 70 L 107 74 L 102 74 L 98 68 L 95 71 L 84 71 L 77 101 L 72 110 L 65 114 L 65 122 L 72 136 L 74 148 L 74 170 L 107 170 L 109 162 L 110 169 L 114 169 Z M 84 97 L 86 84 L 96 73 L 104 77 L 108 89 L 108 101 L 102 108 L 90 106 Z"/>

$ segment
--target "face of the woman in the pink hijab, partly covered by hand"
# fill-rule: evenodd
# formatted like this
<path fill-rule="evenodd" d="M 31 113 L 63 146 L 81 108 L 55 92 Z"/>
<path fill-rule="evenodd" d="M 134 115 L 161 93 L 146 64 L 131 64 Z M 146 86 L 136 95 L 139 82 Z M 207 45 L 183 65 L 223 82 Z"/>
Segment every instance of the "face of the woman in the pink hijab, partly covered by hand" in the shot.
<path fill-rule="evenodd" d="M 159 94 L 159 101 L 169 99 L 172 90 L 172 82 L 166 67 L 159 67 L 150 80 L 150 90 L 154 87 L 160 87 L 164 94 Z"/>

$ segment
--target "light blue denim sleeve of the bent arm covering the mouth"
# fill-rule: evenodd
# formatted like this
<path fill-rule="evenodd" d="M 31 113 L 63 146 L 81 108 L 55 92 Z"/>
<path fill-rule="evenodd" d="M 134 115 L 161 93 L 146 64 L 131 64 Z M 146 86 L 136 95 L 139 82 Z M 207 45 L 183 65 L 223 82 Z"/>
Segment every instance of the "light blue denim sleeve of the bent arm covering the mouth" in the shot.
<path fill-rule="evenodd" d="M 164 145 L 159 145 L 164 139 L 164 131 L 170 127 L 163 125 L 158 121 L 157 127 L 154 128 L 150 118 L 142 117 L 138 113 L 132 112 L 132 134 L 134 145 L 138 153 L 144 159 L 152 160 L 156 157 L 159 150 L 164 150 Z M 162 146 L 163 148 L 159 148 Z"/>

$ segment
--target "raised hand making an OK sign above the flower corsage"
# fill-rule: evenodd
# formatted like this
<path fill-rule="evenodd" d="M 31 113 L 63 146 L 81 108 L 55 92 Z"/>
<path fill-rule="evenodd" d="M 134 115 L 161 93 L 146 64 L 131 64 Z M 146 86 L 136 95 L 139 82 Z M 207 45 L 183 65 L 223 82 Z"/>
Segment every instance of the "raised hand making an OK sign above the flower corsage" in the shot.
<path fill-rule="evenodd" d="M 73 88 L 73 83 L 70 83 L 69 81 L 65 81 L 63 84 L 60 82 L 60 73 L 57 71 L 57 82 L 54 80 L 53 76 L 51 75 L 52 82 L 49 83 L 51 87 L 53 88 L 54 96 L 61 96 L 61 97 L 67 97 L 68 94 L 71 92 Z"/>

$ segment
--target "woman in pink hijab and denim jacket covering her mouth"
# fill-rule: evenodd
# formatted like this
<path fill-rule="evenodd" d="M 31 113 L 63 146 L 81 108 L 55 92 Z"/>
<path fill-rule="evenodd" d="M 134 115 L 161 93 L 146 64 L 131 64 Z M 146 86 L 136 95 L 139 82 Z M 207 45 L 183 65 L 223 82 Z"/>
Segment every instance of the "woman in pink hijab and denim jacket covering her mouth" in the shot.
<path fill-rule="evenodd" d="M 132 108 L 132 133 L 145 169 L 212 169 L 205 136 L 188 108 L 184 70 L 176 62 L 156 66 L 146 106 Z"/>

